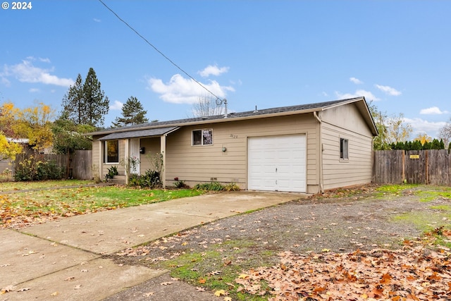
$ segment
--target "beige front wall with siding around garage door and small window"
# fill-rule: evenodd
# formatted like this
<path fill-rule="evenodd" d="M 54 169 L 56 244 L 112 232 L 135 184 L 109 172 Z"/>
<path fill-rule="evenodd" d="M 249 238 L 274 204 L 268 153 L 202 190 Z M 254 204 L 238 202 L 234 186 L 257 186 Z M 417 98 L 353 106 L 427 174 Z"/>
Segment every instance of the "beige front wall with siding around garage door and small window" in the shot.
<path fill-rule="evenodd" d="M 192 130 L 213 129 L 213 145 L 192 145 Z M 319 164 L 316 152 L 319 122 L 312 114 L 259 118 L 192 125 L 167 137 L 166 180 L 185 180 L 187 185 L 218 181 L 247 189 L 247 138 L 271 135 L 307 135 L 307 192 L 318 192 Z M 226 152 L 223 152 L 226 147 Z"/>

